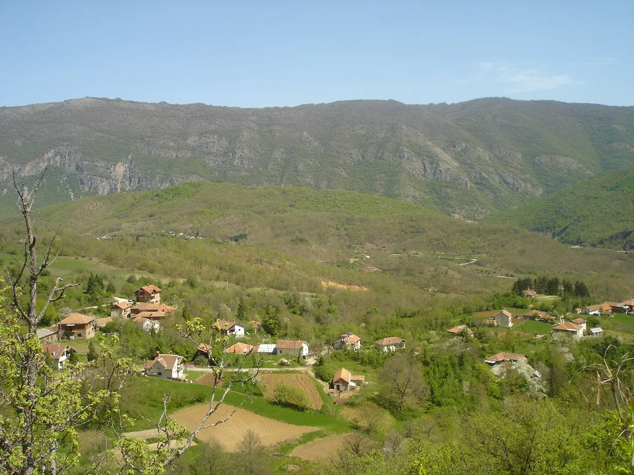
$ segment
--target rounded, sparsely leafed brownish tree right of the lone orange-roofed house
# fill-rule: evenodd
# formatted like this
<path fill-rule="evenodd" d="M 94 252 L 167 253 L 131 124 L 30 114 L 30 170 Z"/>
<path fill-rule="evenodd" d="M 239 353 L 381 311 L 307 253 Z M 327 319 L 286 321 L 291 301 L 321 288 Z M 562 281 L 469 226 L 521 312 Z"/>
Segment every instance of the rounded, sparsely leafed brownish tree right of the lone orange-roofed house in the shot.
<path fill-rule="evenodd" d="M 397 412 L 417 407 L 427 398 L 420 364 L 413 355 L 394 355 L 378 373 L 382 399 Z"/>

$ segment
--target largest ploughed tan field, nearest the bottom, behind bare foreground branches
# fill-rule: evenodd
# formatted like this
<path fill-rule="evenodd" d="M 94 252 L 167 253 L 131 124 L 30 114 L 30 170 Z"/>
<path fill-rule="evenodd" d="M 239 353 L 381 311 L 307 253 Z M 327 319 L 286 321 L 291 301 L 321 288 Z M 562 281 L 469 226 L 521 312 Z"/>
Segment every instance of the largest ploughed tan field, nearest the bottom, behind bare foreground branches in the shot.
<path fill-rule="evenodd" d="M 172 418 L 192 431 L 197 428 L 208 409 L 209 405 L 198 404 L 174 412 Z M 222 405 L 207 420 L 207 424 L 219 421 L 229 415 L 234 409 L 235 407 L 233 406 Z M 216 440 L 223 446 L 224 450 L 235 452 L 238 443 L 242 441 L 249 429 L 261 438 L 264 445 L 273 445 L 318 430 L 315 427 L 294 426 L 285 422 L 274 421 L 247 410 L 238 409 L 228 421 L 216 427 L 202 429 L 198 433 L 197 438 L 205 442 Z"/>

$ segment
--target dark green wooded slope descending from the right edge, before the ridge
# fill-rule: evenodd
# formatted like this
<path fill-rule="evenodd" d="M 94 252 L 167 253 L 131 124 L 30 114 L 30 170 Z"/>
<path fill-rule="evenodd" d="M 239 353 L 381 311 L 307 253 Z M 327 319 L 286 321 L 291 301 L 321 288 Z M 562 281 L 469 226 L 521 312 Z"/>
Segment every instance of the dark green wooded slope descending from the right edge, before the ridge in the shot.
<path fill-rule="evenodd" d="M 634 171 L 597 175 L 491 222 L 510 222 L 574 245 L 634 249 Z"/>

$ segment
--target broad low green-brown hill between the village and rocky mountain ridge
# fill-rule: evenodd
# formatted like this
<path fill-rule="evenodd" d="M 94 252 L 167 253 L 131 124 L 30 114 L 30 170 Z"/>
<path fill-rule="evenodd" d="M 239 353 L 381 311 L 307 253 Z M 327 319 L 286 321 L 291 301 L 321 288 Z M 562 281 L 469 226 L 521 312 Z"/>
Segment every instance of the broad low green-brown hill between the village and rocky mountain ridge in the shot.
<path fill-rule="evenodd" d="M 349 191 L 191 182 L 43 208 L 37 203 L 37 224 L 59 230 L 63 255 L 106 258 L 110 265 L 170 278 L 196 274 L 273 288 L 287 282 L 305 291 L 326 279 L 387 293 L 405 283 L 489 293 L 510 288 L 508 277 L 556 272 L 619 288 L 614 293 L 620 295 L 634 275 L 630 255 L 582 255 L 507 223 L 474 224 Z M 13 243 L 20 239 L 20 217 L 0 225 L 0 243 L 19 252 Z M 202 239 L 179 238 L 181 232 Z M 95 239 L 104 235 L 110 239 Z M 470 259 L 475 262 L 459 265 Z M 381 272 L 358 272 L 366 265 Z M 617 274 L 622 277 L 614 281 Z"/>

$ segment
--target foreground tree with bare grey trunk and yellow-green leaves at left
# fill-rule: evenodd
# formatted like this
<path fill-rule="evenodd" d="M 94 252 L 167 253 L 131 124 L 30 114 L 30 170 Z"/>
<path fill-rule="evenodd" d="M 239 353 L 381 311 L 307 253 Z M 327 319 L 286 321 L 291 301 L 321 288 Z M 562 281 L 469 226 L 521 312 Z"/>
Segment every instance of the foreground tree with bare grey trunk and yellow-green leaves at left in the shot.
<path fill-rule="evenodd" d="M 46 168 L 30 193 L 27 193 L 25 185 L 18 186 L 15 172 L 13 174 L 13 184 L 25 222 L 26 239 L 22 260 L 13 257 L 19 265 L 15 272 L 7 272 L 9 286 L 0 293 L 0 367 L 3 369 L 3 378 L 0 379 L 0 473 L 67 473 L 79 459 L 77 428 L 93 422 L 115 433 L 113 448 L 120 453 L 116 459 L 118 474 L 160 474 L 190 447 L 193 437 L 201 429 L 221 424 L 235 414 L 234 410 L 219 421 L 206 424 L 231 386 L 234 383 L 248 383 L 257 376 L 257 370 L 254 374 L 234 372 L 231 377 L 224 377 L 223 395 L 219 400 L 214 399 L 217 385 L 214 386 L 207 415 L 183 445 L 175 442 L 185 438 L 186 429 L 167 417 L 169 395 L 163 396 L 164 410 L 161 419 L 155 424 L 159 433 L 157 448 L 151 450 L 143 440 L 122 436 L 130 419 L 118 409 L 119 390 L 133 377 L 133 373 L 129 371 L 131 359 L 115 357 L 110 349 L 118 345 L 119 338 L 113 335 L 102 341 L 98 359 L 89 365 L 73 365 L 69 362 L 61 371 L 53 371 L 48 365 L 48 353 L 42 350 L 36 334 L 37 326 L 49 305 L 63 298 L 68 288 L 79 285 L 60 285 L 61 278 L 58 277 L 38 305 L 38 283 L 47 267 L 55 261 L 55 236 L 49 242 L 44 257 L 38 259 L 38 240 L 32 219 L 34 200 L 45 173 Z M 91 283 L 98 287 L 98 279 L 94 276 Z M 23 292 L 26 293 L 25 298 Z M 10 314 L 4 310 L 7 302 L 12 310 Z M 207 329 L 196 319 L 186 325 L 184 336 L 192 338 L 193 335 L 206 333 L 210 346 L 228 346 L 226 335 L 217 326 Z M 221 361 L 216 381 L 223 379 L 223 374 L 224 362 Z M 103 462 L 104 459 L 95 460 L 91 473 L 100 474 L 107 468 L 112 472 Z"/>

